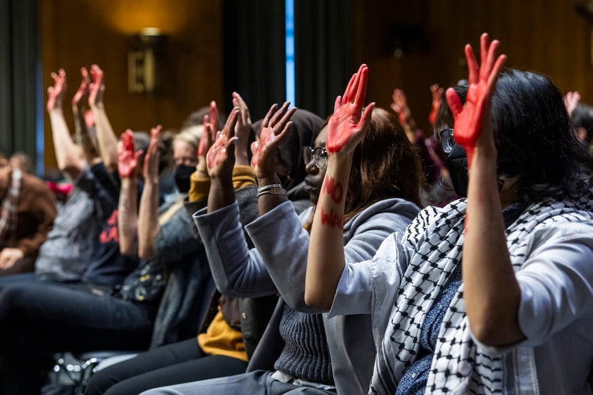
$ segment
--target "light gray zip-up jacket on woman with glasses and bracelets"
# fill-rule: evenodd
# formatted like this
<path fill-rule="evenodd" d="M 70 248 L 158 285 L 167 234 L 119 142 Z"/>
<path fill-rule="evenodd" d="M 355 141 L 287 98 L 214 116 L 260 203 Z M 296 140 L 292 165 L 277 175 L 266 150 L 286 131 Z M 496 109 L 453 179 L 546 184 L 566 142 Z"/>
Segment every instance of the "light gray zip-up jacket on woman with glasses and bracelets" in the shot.
<path fill-rule="evenodd" d="M 386 199 L 358 213 L 344 225 L 344 255 L 347 262 L 373 258 L 392 232 L 403 232 L 419 208 L 402 199 Z M 246 226 L 256 249 L 249 250 L 238 221 L 237 203 L 213 213 L 194 214 L 208 261 L 223 292 L 237 297 L 266 296 L 280 292 L 282 298 L 266 333 L 251 358 L 248 371 L 273 370 L 284 346 L 278 325 L 283 303 L 297 311 L 319 313 L 304 303 L 309 234 L 302 224 L 311 209 L 295 213 L 289 201 Z M 327 346 L 338 394 L 366 394 L 373 373 L 375 344 L 370 315 L 324 318 Z"/>

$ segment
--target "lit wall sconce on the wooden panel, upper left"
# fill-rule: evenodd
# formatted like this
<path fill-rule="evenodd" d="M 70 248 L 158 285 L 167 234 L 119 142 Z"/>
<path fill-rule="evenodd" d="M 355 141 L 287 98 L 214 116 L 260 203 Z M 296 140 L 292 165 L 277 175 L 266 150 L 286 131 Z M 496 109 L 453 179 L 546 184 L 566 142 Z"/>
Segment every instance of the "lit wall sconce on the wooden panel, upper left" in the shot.
<path fill-rule="evenodd" d="M 160 84 L 161 56 L 166 36 L 156 27 L 145 27 L 132 37 L 127 51 L 127 90 L 130 93 L 155 93 Z"/>

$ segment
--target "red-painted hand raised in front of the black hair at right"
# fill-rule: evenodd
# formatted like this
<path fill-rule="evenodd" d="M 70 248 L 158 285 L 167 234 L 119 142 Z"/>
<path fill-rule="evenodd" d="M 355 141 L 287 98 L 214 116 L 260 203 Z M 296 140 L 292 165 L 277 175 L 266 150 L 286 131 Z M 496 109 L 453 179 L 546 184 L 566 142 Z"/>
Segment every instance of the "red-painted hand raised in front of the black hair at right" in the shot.
<path fill-rule="evenodd" d="M 492 94 L 502 65 L 506 61 L 506 55 L 496 56 L 498 46 L 498 40 L 490 42 L 487 33 L 484 33 L 480 37 L 481 64 L 478 66 L 472 47 L 467 44 L 469 87 L 466 104 L 461 105 L 461 100 L 453 88 L 447 89 L 445 94 L 454 118 L 455 142 L 466 150 L 468 168 L 471 167 L 477 144 L 480 141 L 492 142 L 492 127 L 489 125 Z M 485 116 L 487 123 L 484 122 Z"/>

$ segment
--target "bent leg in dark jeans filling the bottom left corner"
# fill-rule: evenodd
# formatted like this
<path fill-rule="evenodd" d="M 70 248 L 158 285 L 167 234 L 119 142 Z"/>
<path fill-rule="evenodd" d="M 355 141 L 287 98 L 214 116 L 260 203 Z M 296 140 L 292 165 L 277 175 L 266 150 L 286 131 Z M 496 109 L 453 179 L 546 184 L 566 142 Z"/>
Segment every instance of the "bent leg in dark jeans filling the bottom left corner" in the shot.
<path fill-rule="evenodd" d="M 18 282 L 0 290 L 0 393 L 39 394 L 58 351 L 146 350 L 156 306 L 86 284 Z"/>

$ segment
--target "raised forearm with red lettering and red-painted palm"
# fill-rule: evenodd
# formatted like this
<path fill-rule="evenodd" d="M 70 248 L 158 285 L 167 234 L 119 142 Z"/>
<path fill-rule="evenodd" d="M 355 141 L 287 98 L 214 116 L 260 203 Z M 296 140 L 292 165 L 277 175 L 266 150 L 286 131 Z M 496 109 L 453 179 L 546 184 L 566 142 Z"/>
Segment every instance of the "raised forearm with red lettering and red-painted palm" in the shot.
<path fill-rule="evenodd" d="M 344 202 L 354 149 L 368 131 L 375 104 L 364 109 L 368 67 L 361 65 L 337 96 L 327 124 L 327 173 L 319 195 L 309 242 L 305 301 L 329 309 L 344 270 Z"/>

